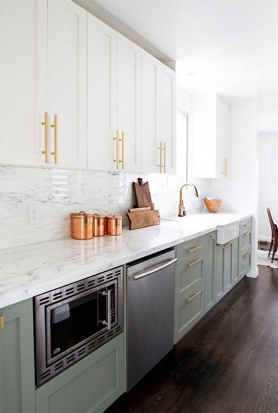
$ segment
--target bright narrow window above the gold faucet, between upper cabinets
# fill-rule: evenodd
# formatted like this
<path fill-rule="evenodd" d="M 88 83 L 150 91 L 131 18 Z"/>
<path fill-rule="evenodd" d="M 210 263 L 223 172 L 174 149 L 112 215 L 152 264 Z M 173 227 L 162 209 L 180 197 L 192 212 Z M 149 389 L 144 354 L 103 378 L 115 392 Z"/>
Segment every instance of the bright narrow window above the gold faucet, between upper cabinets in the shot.
<path fill-rule="evenodd" d="M 187 122 L 188 114 L 181 109 L 176 110 L 176 172 L 187 181 Z"/>

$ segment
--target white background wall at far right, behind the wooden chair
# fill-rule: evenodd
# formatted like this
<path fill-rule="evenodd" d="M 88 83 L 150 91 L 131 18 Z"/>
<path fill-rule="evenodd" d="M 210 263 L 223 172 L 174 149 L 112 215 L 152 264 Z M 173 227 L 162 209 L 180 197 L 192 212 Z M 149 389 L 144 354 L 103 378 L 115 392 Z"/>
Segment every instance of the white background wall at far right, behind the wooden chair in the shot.
<path fill-rule="evenodd" d="M 259 240 L 271 241 L 266 208 L 278 223 L 278 132 L 259 134 Z"/>

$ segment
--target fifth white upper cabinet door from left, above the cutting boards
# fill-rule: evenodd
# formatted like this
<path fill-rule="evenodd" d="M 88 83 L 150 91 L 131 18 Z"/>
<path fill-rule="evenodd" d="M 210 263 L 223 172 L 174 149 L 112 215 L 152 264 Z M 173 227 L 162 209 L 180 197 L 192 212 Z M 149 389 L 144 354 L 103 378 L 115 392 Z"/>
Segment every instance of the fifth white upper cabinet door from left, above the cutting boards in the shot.
<path fill-rule="evenodd" d="M 141 171 L 164 172 L 159 138 L 159 70 L 162 65 L 141 51 Z"/>

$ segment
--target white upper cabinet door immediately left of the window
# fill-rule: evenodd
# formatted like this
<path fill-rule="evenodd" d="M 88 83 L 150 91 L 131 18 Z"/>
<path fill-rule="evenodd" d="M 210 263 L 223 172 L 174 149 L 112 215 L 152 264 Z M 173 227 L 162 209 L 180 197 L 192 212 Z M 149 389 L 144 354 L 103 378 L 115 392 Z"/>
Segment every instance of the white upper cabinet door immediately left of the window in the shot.
<path fill-rule="evenodd" d="M 176 92 L 175 72 L 161 65 L 159 76 L 159 125 L 162 142 L 163 170 L 176 173 Z"/>

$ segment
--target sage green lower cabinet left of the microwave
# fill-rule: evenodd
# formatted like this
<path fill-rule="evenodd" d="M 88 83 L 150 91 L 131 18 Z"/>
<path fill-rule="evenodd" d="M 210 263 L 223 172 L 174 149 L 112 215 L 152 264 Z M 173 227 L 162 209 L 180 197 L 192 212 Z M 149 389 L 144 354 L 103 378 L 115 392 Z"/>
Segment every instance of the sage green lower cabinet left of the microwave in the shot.
<path fill-rule="evenodd" d="M 35 412 L 33 301 L 0 310 L 0 412 Z"/>

